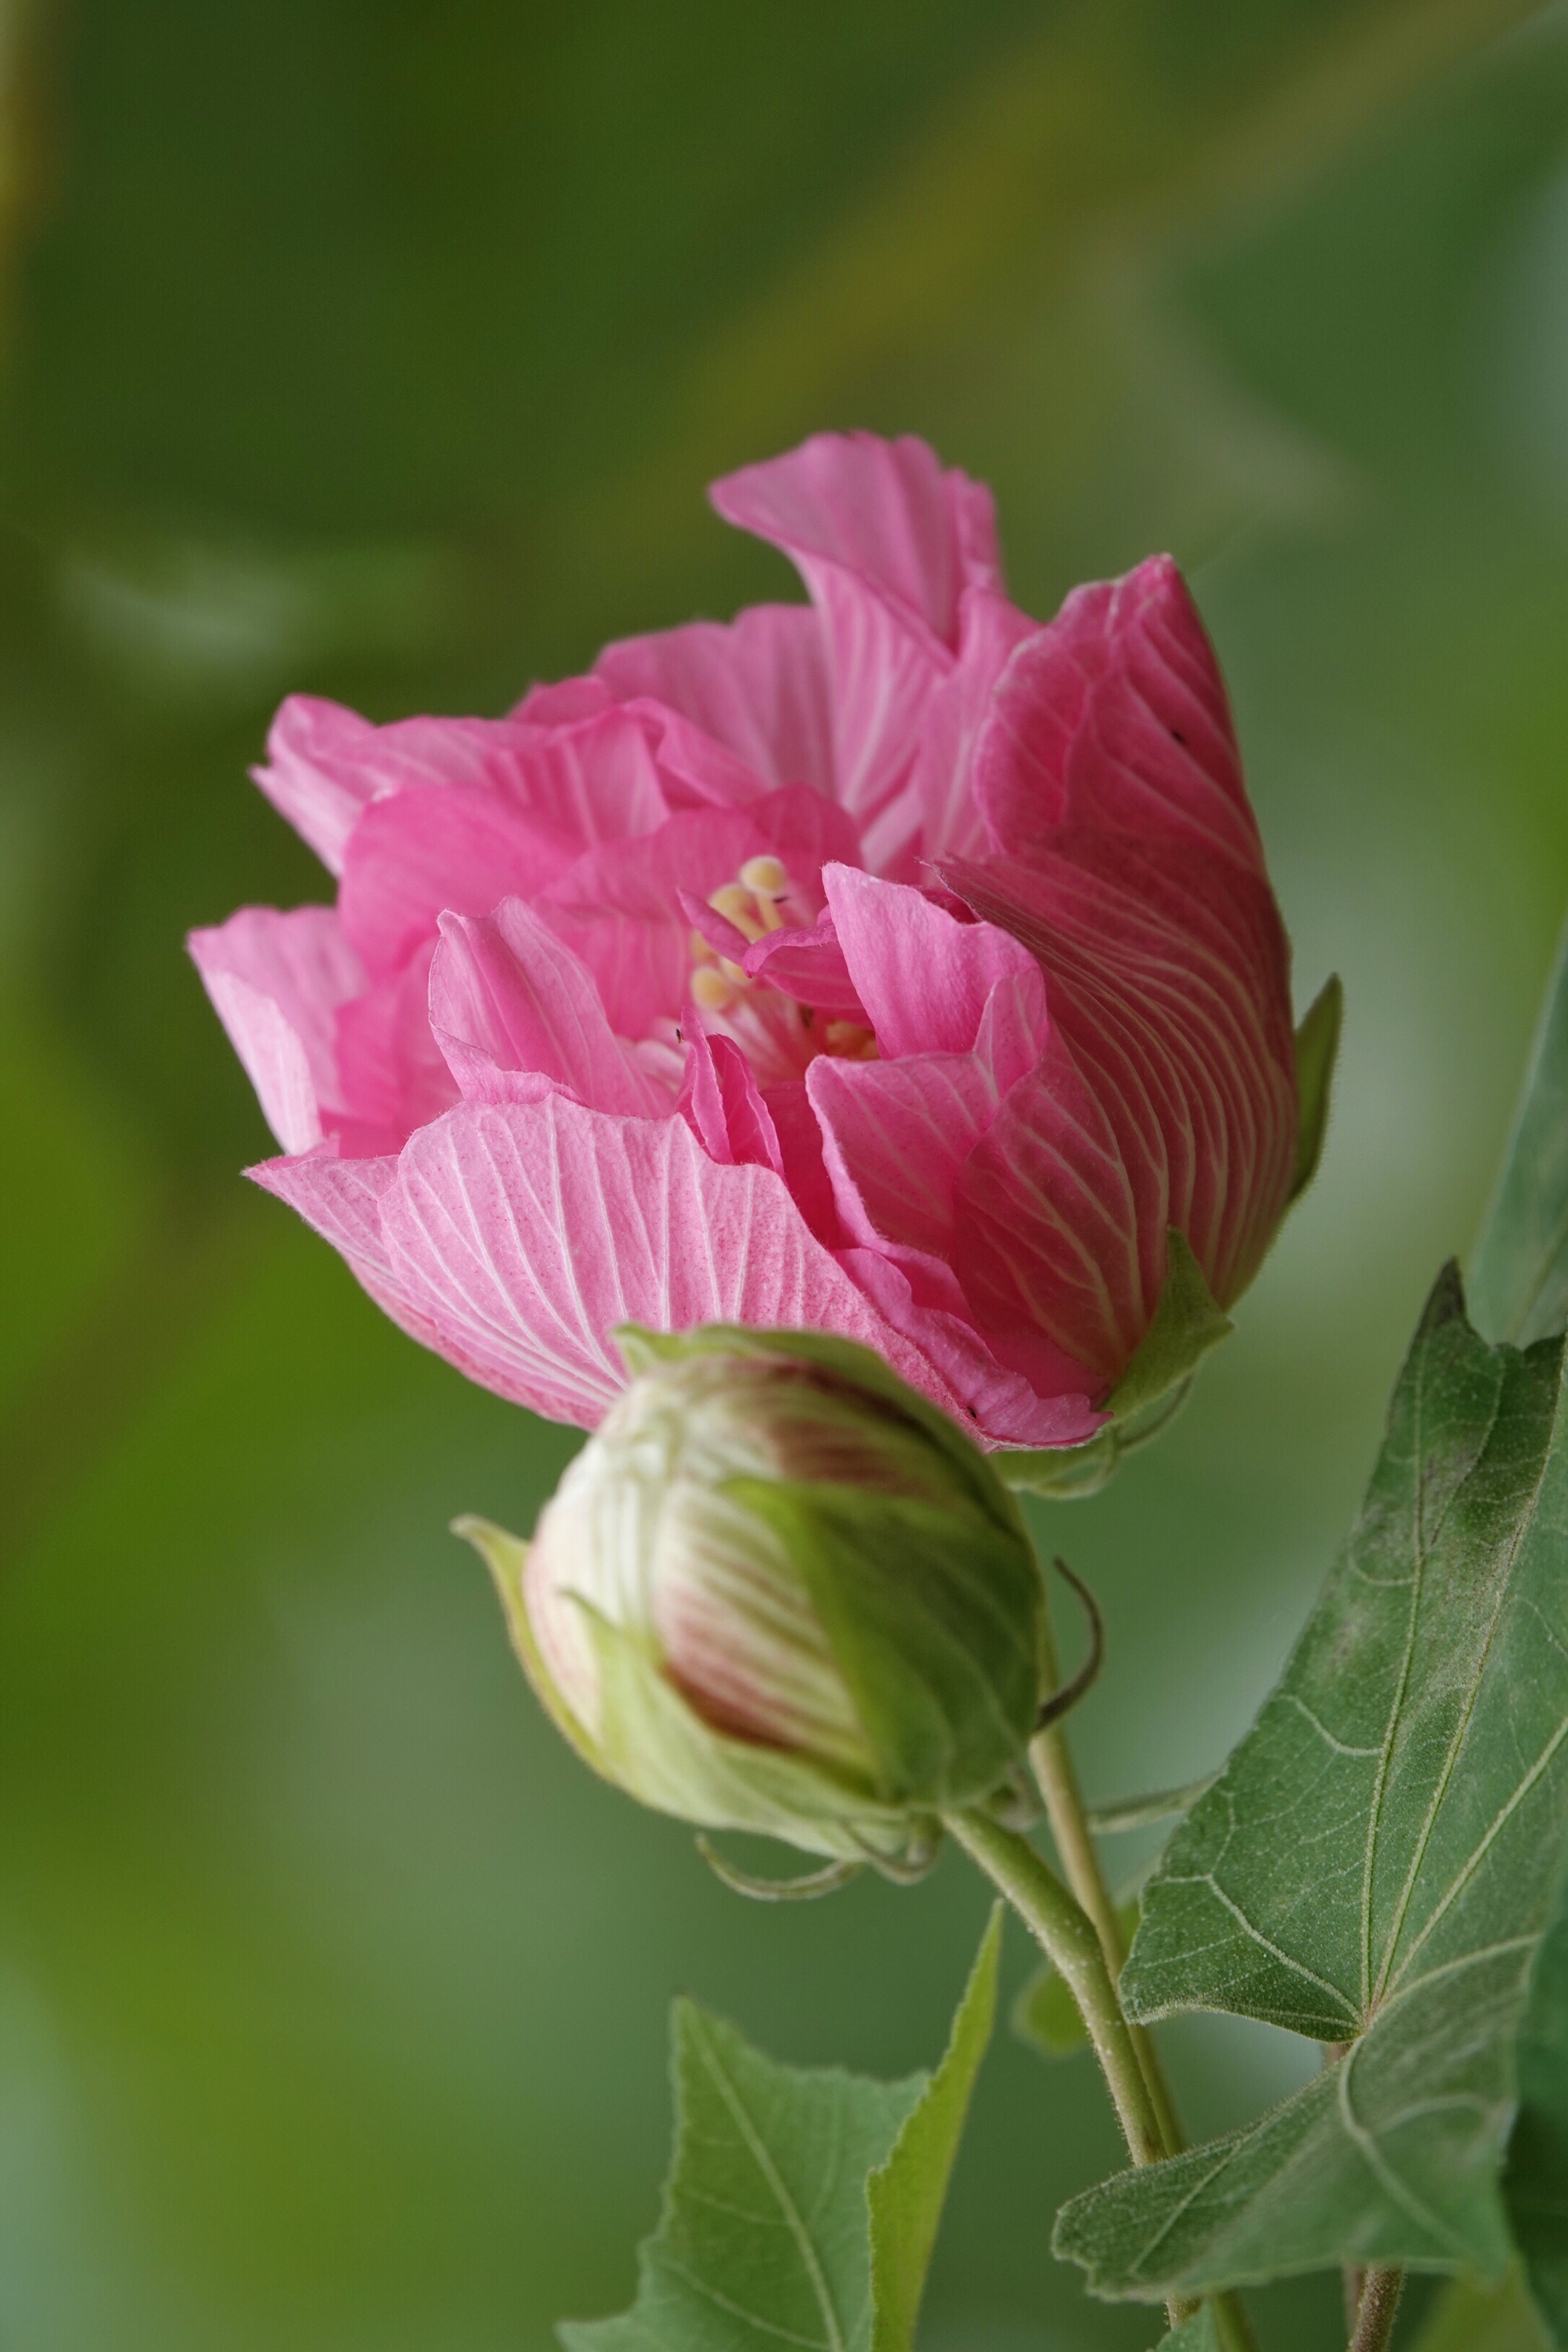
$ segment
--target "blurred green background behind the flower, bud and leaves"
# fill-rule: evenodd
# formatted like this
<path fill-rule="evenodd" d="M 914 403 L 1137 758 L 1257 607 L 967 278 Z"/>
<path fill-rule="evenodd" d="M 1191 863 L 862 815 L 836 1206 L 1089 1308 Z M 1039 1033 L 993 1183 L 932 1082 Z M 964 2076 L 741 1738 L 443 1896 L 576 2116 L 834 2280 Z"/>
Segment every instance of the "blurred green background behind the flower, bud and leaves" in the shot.
<path fill-rule="evenodd" d="M 1568 16 L 5 0 L 0 310 L 0 2347 L 534 2352 L 630 2296 L 670 1994 L 905 2070 L 983 1896 L 755 1910 L 538 1719 L 444 1526 L 527 1529 L 574 1435 L 237 1178 L 181 934 L 324 896 L 244 781 L 268 713 L 491 713 L 790 593 L 703 485 L 820 426 L 987 475 L 1041 614 L 1178 553 L 1298 1000 L 1349 995 L 1239 1338 L 1046 1529 L 1110 1621 L 1091 1792 L 1201 1771 L 1474 1232 L 1568 903 Z M 1199 2131 L 1312 2058 L 1171 2039 Z M 1001 2042 L 931 2352 L 1143 2352 L 1046 2251 L 1114 2161 L 1088 2065 Z"/>

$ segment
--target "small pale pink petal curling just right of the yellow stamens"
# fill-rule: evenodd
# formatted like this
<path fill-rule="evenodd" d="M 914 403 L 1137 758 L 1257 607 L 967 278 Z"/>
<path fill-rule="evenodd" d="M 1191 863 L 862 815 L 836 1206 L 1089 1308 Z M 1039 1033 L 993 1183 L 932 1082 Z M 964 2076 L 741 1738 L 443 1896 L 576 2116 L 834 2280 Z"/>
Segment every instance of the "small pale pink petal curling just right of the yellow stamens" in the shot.
<path fill-rule="evenodd" d="M 1006 931 L 959 922 L 907 882 L 830 866 L 823 887 L 884 1058 L 971 1051 L 997 981 L 1032 964 Z"/>

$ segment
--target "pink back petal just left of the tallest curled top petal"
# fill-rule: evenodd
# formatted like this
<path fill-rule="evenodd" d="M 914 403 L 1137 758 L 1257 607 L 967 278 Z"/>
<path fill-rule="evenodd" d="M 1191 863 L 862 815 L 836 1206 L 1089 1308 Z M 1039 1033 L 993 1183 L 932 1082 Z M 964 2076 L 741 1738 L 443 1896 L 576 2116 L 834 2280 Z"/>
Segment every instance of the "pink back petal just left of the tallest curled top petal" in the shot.
<path fill-rule="evenodd" d="M 623 637 L 604 647 L 595 675 L 621 703 L 651 699 L 691 720 L 762 783 L 832 795 L 827 656 L 809 604 L 752 604 L 729 626 Z"/>

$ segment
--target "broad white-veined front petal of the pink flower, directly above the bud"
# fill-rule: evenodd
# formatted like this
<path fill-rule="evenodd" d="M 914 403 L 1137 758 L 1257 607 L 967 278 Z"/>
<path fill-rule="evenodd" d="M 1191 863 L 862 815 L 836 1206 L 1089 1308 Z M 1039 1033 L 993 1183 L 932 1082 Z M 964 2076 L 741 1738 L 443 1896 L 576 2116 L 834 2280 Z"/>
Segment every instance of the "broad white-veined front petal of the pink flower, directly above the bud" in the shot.
<path fill-rule="evenodd" d="M 393 1162 L 270 1160 L 252 1174 L 404 1329 L 555 1421 L 592 1428 L 614 1402 L 621 1322 L 837 1331 L 961 1411 L 811 1237 L 780 1178 L 719 1167 L 684 1120 L 614 1120 L 559 1094 L 461 1103 Z"/>

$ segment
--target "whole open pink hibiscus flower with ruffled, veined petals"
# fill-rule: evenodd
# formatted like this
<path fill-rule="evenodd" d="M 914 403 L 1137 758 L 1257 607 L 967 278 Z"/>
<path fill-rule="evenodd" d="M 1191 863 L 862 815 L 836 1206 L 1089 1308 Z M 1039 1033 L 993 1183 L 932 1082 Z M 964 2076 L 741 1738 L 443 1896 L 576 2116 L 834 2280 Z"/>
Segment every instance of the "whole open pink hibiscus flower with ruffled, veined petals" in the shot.
<path fill-rule="evenodd" d="M 712 492 L 809 604 L 611 644 L 505 720 L 282 706 L 336 906 L 190 948 L 254 1169 L 416 1338 L 592 1428 L 621 1322 L 839 1331 L 1060 1446 L 1168 1230 L 1227 1305 L 1291 1183 L 1288 948 L 1168 557 L 1048 626 L 990 494 L 818 435 Z"/>

